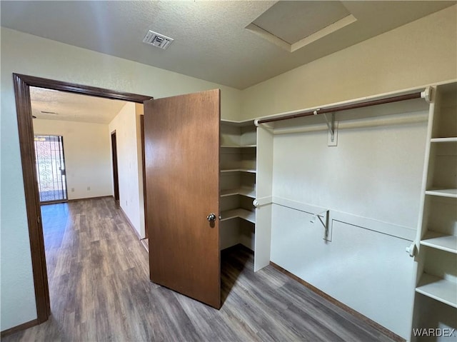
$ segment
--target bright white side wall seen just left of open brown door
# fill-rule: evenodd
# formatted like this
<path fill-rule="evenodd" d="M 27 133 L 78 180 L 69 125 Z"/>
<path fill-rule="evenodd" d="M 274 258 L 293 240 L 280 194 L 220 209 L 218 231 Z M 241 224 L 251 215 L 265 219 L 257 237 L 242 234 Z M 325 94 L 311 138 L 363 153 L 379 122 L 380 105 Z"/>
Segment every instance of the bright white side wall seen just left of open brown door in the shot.
<path fill-rule="evenodd" d="M 127 103 L 109 123 L 106 136 L 116 131 L 119 174 L 119 205 L 144 238 L 143 169 L 141 161 L 140 114 L 136 104 Z"/>

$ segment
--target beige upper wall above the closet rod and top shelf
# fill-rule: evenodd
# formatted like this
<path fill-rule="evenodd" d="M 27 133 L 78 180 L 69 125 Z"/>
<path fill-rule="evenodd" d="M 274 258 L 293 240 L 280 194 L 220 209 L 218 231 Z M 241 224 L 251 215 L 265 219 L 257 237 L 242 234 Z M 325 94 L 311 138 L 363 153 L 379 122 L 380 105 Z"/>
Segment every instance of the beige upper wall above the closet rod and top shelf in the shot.
<path fill-rule="evenodd" d="M 457 78 L 457 6 L 243 90 L 242 119 Z"/>

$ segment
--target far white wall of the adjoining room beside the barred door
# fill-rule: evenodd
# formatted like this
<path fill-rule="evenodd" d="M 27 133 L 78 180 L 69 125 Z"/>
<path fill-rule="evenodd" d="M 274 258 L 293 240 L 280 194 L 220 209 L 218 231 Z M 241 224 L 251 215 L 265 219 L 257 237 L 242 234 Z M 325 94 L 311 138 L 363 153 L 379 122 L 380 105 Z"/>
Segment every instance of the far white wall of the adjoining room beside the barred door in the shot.
<path fill-rule="evenodd" d="M 107 124 L 34 120 L 34 134 L 64 137 L 69 199 L 113 195 L 111 149 L 107 130 Z M 90 190 L 87 190 L 88 187 Z"/>

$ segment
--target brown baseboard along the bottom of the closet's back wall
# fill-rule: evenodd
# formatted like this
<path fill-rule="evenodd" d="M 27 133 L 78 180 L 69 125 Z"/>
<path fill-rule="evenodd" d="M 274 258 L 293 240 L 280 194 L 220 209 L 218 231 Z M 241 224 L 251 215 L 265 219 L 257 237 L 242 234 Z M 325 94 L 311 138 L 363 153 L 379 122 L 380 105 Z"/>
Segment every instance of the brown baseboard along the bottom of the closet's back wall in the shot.
<path fill-rule="evenodd" d="M 385 327 L 381 326 L 381 324 L 376 323 L 375 321 L 371 320 L 370 318 L 368 318 L 366 316 L 363 316 L 358 311 L 355 311 L 353 308 L 347 306 L 346 304 L 341 303 L 341 301 L 338 301 L 337 299 L 333 298 L 332 296 L 328 296 L 327 293 L 319 290 L 318 288 L 316 288 L 316 286 L 312 286 L 310 283 L 306 283 L 306 281 L 303 281 L 303 279 L 298 278 L 298 276 L 296 276 L 295 274 L 293 274 L 289 271 L 286 271 L 281 266 L 276 265 L 276 263 L 273 263 L 270 261 L 270 265 L 273 266 L 274 268 L 276 268 L 278 271 L 286 274 L 286 276 L 292 278 L 295 281 L 298 281 L 298 283 L 301 283 L 303 286 L 306 286 L 306 288 L 309 288 L 311 291 L 313 291 L 314 293 L 317 293 L 322 298 L 325 298 L 327 301 L 335 304 L 336 306 L 338 306 L 338 308 L 342 308 L 344 311 L 351 313 L 352 316 L 360 318 L 362 321 L 366 322 L 373 328 L 376 328 L 378 331 L 381 331 L 384 335 L 393 339 L 393 341 L 398 341 L 398 342 L 406 341 L 401 336 L 398 336 L 396 333 L 393 333 L 392 331 L 388 330 L 388 328 L 385 328 Z"/>

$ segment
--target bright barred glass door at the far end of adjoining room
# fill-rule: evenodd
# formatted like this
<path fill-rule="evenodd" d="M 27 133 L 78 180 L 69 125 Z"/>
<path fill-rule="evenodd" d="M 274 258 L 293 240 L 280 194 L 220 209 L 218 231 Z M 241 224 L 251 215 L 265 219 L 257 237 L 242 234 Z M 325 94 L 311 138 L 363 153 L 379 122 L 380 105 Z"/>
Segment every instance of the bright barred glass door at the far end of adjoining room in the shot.
<path fill-rule="evenodd" d="M 35 135 L 34 143 L 40 203 L 67 201 L 64 137 Z"/>

